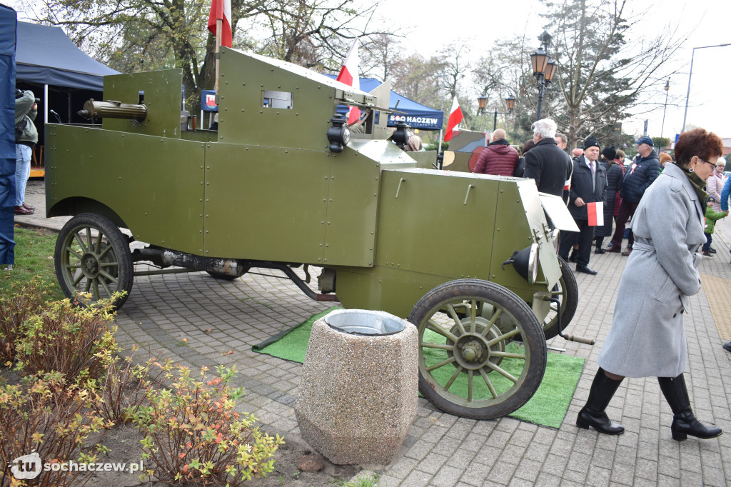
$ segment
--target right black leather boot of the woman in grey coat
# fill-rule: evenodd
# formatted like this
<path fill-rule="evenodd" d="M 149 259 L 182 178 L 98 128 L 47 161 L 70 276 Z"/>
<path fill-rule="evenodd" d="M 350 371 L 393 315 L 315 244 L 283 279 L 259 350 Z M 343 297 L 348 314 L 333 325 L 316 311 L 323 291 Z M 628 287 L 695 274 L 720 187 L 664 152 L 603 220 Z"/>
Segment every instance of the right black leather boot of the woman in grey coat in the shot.
<path fill-rule="evenodd" d="M 688 435 L 701 439 L 721 436 L 723 431 L 720 428 L 708 428 L 693 414 L 683 374 L 678 377 L 658 377 L 657 382 L 660 383 L 660 390 L 667 404 L 673 409 L 673 424 L 670 425 L 673 439 L 681 442 L 683 439 L 688 439 Z"/>

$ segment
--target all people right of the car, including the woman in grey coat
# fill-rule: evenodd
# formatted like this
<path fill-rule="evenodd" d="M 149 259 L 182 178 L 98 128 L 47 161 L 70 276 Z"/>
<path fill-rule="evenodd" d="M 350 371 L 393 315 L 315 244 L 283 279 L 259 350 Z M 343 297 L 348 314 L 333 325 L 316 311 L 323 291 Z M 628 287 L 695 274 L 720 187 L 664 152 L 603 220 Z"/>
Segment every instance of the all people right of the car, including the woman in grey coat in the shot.
<path fill-rule="evenodd" d="M 673 411 L 673 439 L 718 437 L 721 429 L 702 424 L 690 404 L 683 377 L 688 363 L 683 314 L 689 309 L 689 296 L 701 289 L 700 253 L 712 257 L 716 252 L 711 247 L 713 228 L 729 213 L 731 178 L 724 181 L 721 139 L 700 128 L 683 132 L 675 143 L 673 162 L 669 154 L 656 153 L 650 137 L 641 137 L 637 156 L 625 167 L 624 152 L 614 147 L 602 151 L 593 135 L 570 158 L 567 139 L 556 129 L 556 122 L 548 118 L 535 122 L 533 140 L 523 146 L 520 159 L 517 151 L 504 148 L 504 132 L 498 140 L 493 137 L 490 146 L 499 145 L 500 154 L 505 154 L 499 159 L 500 174 L 515 170 L 520 172 L 515 175 L 533 178 L 540 192 L 564 197 L 579 231 L 562 235 L 558 254 L 575 262 L 577 272 L 596 274 L 588 266 L 592 245 L 596 254 L 621 252 L 629 257 L 617 290 L 621 306 L 614 309 L 597 359 L 599 370 L 576 425 L 604 434 L 623 433 L 624 427 L 605 412 L 622 380 L 657 377 Z M 497 154 L 497 149 L 482 151 L 477 170 L 495 174 L 491 170 L 498 167 Z M 628 245 L 622 251 L 625 230 Z M 731 342 L 724 349 L 731 352 Z"/>

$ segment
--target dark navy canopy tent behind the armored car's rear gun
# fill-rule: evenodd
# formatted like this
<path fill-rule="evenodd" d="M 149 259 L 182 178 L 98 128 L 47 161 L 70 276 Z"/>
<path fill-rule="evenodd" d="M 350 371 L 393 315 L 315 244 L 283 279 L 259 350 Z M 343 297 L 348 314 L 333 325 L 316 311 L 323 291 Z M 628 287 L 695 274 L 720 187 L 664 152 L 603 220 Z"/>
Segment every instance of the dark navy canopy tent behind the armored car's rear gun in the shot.
<path fill-rule="evenodd" d="M 61 27 L 27 22 L 18 22 L 15 70 L 15 86 L 29 89 L 41 99 L 35 121 L 39 145 L 43 125 L 58 121 L 55 116 L 48 117 L 50 110 L 58 113 L 61 121 L 86 122 L 76 112 L 89 98 L 102 98 L 105 75 L 118 74 L 77 48 Z"/>

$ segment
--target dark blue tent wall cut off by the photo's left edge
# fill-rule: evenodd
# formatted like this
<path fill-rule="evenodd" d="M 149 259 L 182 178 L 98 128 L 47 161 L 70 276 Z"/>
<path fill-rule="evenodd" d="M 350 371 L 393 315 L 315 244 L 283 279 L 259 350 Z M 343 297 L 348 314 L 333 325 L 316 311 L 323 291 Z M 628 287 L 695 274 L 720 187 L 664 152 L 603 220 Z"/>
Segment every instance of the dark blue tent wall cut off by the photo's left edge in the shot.
<path fill-rule="evenodd" d="M 0 4 L 0 264 L 15 263 L 15 25 L 17 14 Z"/>

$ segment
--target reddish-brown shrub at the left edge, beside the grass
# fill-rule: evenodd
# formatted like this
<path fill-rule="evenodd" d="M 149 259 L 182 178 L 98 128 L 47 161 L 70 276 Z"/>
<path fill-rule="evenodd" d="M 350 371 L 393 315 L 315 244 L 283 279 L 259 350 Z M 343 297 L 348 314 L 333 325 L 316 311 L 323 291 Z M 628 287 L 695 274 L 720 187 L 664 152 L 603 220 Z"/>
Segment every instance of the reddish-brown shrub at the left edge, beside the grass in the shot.
<path fill-rule="evenodd" d="M 38 312 L 47 295 L 48 284 L 33 279 L 23 286 L 14 285 L 10 295 L 0 297 L 0 363 L 15 360 L 23 322 Z"/>

